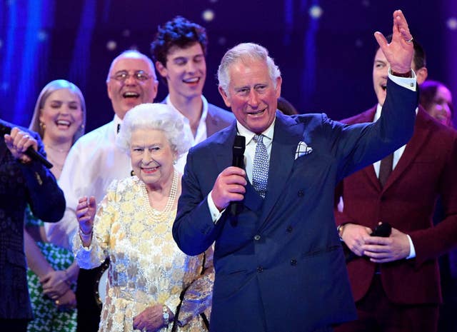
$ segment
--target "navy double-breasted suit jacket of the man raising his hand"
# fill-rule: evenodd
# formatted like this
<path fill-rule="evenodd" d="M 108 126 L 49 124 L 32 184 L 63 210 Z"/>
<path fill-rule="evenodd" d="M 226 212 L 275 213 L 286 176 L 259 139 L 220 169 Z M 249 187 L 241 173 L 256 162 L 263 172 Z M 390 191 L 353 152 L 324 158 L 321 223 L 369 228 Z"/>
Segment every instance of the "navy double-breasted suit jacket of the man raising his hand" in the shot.
<path fill-rule="evenodd" d="M 189 151 L 173 235 L 185 253 L 215 243 L 211 331 L 314 331 L 356 318 L 333 195 L 343 176 L 408 141 L 417 94 L 388 81 L 382 119 L 346 126 L 325 114 L 276 112 L 263 200 L 250 183 L 235 226 L 214 224 L 207 196 L 231 166 L 236 124 Z M 295 159 L 298 143 L 313 152 Z"/>

